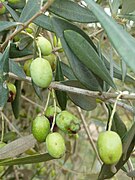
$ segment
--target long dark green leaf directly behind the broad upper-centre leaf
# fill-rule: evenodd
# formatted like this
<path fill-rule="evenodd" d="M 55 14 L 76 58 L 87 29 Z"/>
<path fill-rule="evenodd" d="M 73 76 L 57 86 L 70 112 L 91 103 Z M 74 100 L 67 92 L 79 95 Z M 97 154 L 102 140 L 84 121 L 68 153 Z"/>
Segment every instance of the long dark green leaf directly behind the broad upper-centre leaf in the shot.
<path fill-rule="evenodd" d="M 81 35 L 83 35 L 93 47 L 95 47 L 93 42 L 90 40 L 90 38 L 77 26 L 74 26 L 73 24 L 70 24 L 69 22 L 63 19 L 53 17 L 52 25 L 53 25 L 55 33 L 61 40 L 62 47 L 66 53 L 66 56 L 69 60 L 70 67 L 72 68 L 72 71 L 74 75 L 76 76 L 76 78 L 88 89 L 102 91 L 102 88 L 96 76 L 84 64 L 80 62 L 77 56 L 75 56 L 74 53 L 69 48 L 68 44 L 66 43 L 64 39 L 63 32 L 66 29 L 72 29 L 74 31 L 77 31 Z"/>

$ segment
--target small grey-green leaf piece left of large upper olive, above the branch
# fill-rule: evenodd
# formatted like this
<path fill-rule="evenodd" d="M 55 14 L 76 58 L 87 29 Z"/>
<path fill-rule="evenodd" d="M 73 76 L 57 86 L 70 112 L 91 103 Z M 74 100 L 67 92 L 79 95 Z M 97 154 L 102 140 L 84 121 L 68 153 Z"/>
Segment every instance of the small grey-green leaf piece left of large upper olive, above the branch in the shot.
<path fill-rule="evenodd" d="M 21 68 L 19 63 L 14 62 L 13 60 L 10 59 L 9 61 L 9 71 L 12 72 L 13 74 L 17 75 L 18 77 L 25 79 L 26 75 Z"/>

